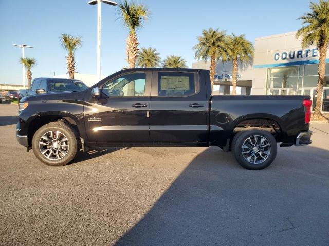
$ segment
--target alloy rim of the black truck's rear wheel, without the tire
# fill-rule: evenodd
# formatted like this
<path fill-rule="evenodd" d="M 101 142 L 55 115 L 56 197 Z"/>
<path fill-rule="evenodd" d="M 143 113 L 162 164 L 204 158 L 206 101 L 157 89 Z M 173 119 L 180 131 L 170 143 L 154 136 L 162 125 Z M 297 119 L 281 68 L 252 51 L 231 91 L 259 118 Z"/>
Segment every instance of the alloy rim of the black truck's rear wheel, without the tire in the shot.
<path fill-rule="evenodd" d="M 267 138 L 254 135 L 243 142 L 241 151 L 246 161 L 258 165 L 267 160 L 271 153 L 271 146 Z"/>

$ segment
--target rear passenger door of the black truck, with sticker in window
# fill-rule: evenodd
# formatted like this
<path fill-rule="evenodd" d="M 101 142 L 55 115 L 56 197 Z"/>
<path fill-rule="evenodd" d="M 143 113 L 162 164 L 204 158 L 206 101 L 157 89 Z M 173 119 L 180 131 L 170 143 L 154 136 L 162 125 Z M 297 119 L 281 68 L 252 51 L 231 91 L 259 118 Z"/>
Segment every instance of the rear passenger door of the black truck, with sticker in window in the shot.
<path fill-rule="evenodd" d="M 157 145 L 206 145 L 208 101 L 198 72 L 153 72 L 150 138 Z"/>

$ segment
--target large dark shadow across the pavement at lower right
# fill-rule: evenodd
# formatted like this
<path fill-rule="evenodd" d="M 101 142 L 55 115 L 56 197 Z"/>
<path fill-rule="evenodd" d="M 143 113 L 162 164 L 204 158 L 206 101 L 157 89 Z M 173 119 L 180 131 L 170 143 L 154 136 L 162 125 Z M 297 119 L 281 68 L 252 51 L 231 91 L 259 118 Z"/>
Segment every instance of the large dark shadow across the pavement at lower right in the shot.
<path fill-rule="evenodd" d="M 208 148 L 115 245 L 324 245 L 328 159 L 312 146 L 280 148 L 270 167 L 249 171 Z"/>

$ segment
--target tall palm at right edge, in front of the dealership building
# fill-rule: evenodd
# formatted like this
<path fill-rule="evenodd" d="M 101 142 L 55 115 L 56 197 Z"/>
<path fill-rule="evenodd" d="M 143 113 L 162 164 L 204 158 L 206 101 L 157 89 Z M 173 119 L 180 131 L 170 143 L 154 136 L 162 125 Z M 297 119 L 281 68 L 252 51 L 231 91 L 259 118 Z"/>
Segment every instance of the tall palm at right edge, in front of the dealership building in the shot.
<path fill-rule="evenodd" d="M 310 2 L 311 12 L 305 13 L 299 19 L 303 21 L 297 33 L 296 38 L 302 37 L 302 47 L 316 45 L 319 49 L 319 80 L 317 85 L 317 101 L 314 108 L 313 118 L 316 120 L 325 120 L 321 115 L 321 98 L 323 93 L 323 81 L 325 74 L 325 58 L 329 44 L 329 1 L 320 0 L 318 4 Z"/>

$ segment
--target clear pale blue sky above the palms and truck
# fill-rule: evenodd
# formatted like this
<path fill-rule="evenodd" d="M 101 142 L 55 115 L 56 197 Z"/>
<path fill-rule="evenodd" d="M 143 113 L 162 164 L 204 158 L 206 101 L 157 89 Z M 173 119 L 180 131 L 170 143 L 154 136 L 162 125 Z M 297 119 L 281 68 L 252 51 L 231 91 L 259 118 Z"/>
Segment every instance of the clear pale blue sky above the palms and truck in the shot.
<path fill-rule="evenodd" d="M 61 33 L 82 36 L 76 52 L 77 71 L 96 74 L 96 6 L 87 0 L 0 0 L 0 83 L 21 84 L 22 51 L 12 44 L 27 44 L 25 56 L 38 65 L 33 77 L 65 74 L 66 52 Z M 308 0 L 139 0 L 152 11 L 144 28 L 138 31 L 140 47 L 156 48 L 162 58 L 179 55 L 191 67 L 193 45 L 204 28 L 220 28 L 230 34 L 255 37 L 297 30 L 299 16 L 308 11 Z M 102 4 L 102 74 L 125 67 L 127 30 L 117 20 L 117 7 Z"/>

